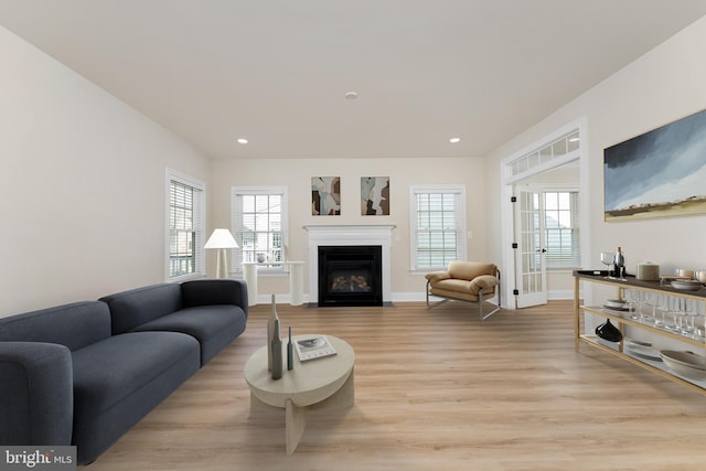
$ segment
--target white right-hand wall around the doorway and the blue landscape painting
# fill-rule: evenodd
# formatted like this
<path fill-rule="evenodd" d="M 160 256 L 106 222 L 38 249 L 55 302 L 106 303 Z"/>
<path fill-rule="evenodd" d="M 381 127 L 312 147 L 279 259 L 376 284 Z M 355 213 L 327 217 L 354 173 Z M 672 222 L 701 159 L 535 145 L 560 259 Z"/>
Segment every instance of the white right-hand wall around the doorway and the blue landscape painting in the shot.
<path fill-rule="evenodd" d="M 502 159 L 586 117 L 587 140 L 581 149 L 588 159 L 584 196 L 589 199 L 591 247 L 591 264 L 586 268 L 602 267 L 600 251 L 617 246 L 625 250 L 630 272 L 645 260 L 660 264 L 663 274 L 671 274 L 675 266 L 706 267 L 706 215 L 606 223 L 602 190 L 605 148 L 706 108 L 705 56 L 706 18 L 492 152 L 486 162 L 489 193 L 501 194 Z M 499 232 L 501 221 L 494 214 L 500 212 L 500 201 L 489 203 L 489 229 Z M 491 257 L 500 257 L 496 239 L 488 240 Z"/>

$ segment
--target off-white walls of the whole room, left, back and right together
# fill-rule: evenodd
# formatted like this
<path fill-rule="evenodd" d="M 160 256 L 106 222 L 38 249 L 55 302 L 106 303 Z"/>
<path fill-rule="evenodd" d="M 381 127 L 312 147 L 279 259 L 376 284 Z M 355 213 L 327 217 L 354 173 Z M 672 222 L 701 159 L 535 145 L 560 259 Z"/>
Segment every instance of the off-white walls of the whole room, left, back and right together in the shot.
<path fill-rule="evenodd" d="M 393 297 L 420 295 L 424 278 L 409 274 L 409 185 L 464 183 L 469 258 L 500 260 L 500 162 L 581 117 L 591 266 L 600 266 L 600 250 L 621 245 L 631 269 L 646 259 L 665 272 L 706 267 L 706 216 L 609 224 L 602 215 L 602 149 L 706 108 L 706 19 L 485 160 L 235 159 L 212 168 L 182 140 L 2 28 L 0 56 L 0 317 L 162 281 L 167 167 L 210 183 L 208 227 L 229 226 L 232 185 L 288 185 L 292 259 L 306 259 L 307 224 L 396 225 Z M 311 216 L 310 179 L 321 175 L 342 178 L 343 215 Z M 361 216 L 360 176 L 378 175 L 391 176 L 393 214 Z M 279 281 L 261 290 L 286 292 Z"/>

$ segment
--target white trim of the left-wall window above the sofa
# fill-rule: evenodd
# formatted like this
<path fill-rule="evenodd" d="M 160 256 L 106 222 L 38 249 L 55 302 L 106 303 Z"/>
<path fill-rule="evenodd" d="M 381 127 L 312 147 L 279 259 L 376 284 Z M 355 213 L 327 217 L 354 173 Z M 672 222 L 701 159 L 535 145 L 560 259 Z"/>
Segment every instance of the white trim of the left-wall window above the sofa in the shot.
<path fill-rule="evenodd" d="M 183 185 L 191 186 L 201 191 L 200 207 L 194 208 L 196 213 L 194 216 L 194 225 L 196 232 L 196 239 L 194 242 L 194 251 L 196 256 L 196 267 L 193 274 L 180 275 L 176 277 L 171 276 L 170 267 L 170 243 L 171 243 L 171 184 L 172 181 L 181 183 Z M 206 276 L 206 259 L 205 249 L 203 248 L 206 242 L 206 184 L 201 180 L 194 179 L 191 175 L 182 173 L 178 170 L 167 168 L 165 172 L 165 221 L 164 221 L 164 280 L 167 282 L 182 282 L 190 279 L 203 278 Z"/>

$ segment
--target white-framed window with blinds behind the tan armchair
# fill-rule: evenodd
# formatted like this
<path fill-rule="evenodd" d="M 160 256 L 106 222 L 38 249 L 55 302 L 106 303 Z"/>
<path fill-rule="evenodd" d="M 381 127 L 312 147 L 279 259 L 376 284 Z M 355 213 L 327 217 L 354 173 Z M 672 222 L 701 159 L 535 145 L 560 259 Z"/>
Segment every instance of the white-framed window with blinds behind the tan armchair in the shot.
<path fill-rule="evenodd" d="M 411 270 L 445 269 L 466 256 L 466 188 L 410 189 Z"/>

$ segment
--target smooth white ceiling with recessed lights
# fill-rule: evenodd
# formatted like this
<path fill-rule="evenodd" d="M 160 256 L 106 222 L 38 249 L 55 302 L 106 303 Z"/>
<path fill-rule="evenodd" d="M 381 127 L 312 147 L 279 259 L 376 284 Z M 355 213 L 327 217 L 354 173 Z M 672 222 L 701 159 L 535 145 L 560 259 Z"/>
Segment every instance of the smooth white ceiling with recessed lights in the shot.
<path fill-rule="evenodd" d="M 704 14 L 706 0 L 0 0 L 4 28 L 213 158 L 481 157 Z"/>

